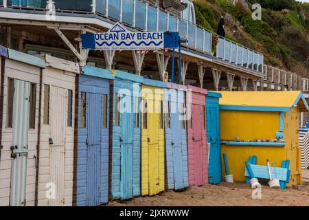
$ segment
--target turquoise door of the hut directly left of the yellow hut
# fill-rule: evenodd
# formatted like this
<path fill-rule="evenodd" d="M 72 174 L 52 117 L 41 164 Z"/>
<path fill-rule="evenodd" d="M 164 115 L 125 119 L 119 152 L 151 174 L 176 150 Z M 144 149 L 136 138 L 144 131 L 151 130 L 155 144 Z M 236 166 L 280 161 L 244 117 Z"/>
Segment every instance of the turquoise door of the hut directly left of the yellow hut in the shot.
<path fill-rule="evenodd" d="M 133 197 L 133 101 L 130 96 L 122 96 L 121 101 L 130 104 L 129 112 L 120 109 L 120 148 L 121 148 L 121 180 L 120 198 Z M 122 103 L 120 103 L 122 104 Z M 124 109 L 126 107 L 124 106 Z"/>

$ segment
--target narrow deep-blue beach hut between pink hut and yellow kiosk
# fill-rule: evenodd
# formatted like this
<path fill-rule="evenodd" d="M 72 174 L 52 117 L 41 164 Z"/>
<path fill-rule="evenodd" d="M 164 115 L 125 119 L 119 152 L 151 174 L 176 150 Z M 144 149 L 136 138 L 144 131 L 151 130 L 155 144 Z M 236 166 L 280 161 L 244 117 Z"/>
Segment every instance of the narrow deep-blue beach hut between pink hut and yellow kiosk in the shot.
<path fill-rule="evenodd" d="M 221 97 L 221 94 L 208 91 L 206 98 L 207 140 L 208 144 L 210 144 L 208 160 L 209 184 L 219 184 L 222 181 L 219 111 L 219 98 Z"/>

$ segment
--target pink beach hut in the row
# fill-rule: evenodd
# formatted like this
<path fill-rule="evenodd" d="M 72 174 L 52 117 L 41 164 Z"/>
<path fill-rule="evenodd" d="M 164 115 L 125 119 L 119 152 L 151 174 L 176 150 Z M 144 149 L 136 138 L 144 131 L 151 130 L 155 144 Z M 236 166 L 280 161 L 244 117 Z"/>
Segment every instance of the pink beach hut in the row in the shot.
<path fill-rule="evenodd" d="M 187 105 L 192 114 L 187 120 L 190 186 L 202 186 L 208 182 L 206 96 L 206 89 L 187 86 Z"/>

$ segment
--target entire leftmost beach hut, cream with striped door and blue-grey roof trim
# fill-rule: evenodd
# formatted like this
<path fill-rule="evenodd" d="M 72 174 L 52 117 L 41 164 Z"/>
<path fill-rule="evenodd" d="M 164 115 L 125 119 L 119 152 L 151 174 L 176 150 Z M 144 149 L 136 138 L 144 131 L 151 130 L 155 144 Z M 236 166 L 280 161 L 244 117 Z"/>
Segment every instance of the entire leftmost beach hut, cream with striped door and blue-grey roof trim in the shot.
<path fill-rule="evenodd" d="M 34 206 L 41 58 L 1 47 L 0 206 Z"/>

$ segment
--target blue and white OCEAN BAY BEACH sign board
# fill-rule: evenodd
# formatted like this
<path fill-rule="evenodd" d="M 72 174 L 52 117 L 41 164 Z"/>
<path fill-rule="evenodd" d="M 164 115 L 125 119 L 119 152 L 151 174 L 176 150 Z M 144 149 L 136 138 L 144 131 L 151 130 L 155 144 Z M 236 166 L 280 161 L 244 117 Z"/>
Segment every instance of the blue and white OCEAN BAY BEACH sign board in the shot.
<path fill-rule="evenodd" d="M 108 32 L 82 34 L 82 47 L 90 50 L 162 50 L 175 45 L 171 33 L 178 36 L 176 32 L 131 32 L 115 23 Z"/>

